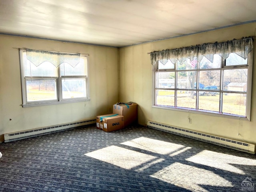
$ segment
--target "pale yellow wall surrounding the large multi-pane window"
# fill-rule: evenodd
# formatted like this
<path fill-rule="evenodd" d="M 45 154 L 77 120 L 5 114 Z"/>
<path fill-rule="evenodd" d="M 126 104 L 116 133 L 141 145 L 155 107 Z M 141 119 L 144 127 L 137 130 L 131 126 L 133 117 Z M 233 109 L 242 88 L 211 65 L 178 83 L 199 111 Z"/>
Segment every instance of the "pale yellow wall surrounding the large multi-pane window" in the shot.
<path fill-rule="evenodd" d="M 180 48 L 207 42 L 223 42 L 234 38 L 255 36 L 256 23 L 244 24 L 190 36 L 170 38 L 120 48 L 120 101 L 138 103 L 138 122 L 146 125 L 147 120 L 179 128 L 186 128 L 243 142 L 256 143 L 256 83 L 252 84 L 251 121 L 240 118 L 218 117 L 191 112 L 180 112 L 152 108 L 153 73 L 148 52 Z M 254 43 L 254 47 L 255 43 Z M 256 74 L 256 48 L 254 69 Z M 255 76 L 255 75 L 254 75 Z M 253 82 L 256 78 L 253 76 Z M 188 116 L 192 124 L 188 123 Z"/>

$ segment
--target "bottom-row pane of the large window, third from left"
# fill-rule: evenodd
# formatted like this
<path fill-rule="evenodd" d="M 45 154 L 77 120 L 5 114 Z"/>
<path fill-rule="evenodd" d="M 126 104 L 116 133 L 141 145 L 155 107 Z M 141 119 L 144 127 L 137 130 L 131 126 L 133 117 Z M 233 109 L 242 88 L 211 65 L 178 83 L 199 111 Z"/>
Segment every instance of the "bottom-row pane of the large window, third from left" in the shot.
<path fill-rule="evenodd" d="M 212 92 L 212 94 L 205 91 L 199 92 L 198 109 L 219 112 L 220 95 Z"/>

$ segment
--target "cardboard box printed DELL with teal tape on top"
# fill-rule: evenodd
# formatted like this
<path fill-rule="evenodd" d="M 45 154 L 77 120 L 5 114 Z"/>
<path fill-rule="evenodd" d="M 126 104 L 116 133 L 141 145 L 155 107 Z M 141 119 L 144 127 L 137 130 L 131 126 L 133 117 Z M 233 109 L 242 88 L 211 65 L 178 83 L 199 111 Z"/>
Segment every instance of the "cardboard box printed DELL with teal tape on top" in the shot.
<path fill-rule="evenodd" d="M 124 128 L 124 116 L 118 114 L 107 114 L 96 117 L 96 128 L 111 132 Z"/>

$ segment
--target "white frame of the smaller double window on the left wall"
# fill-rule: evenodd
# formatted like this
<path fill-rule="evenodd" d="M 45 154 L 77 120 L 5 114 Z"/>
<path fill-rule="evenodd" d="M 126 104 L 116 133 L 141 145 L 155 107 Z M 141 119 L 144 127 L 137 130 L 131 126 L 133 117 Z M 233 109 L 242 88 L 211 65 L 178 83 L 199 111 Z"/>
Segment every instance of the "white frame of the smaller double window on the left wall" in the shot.
<path fill-rule="evenodd" d="M 26 52 L 25 49 L 20 49 L 20 74 L 21 74 L 21 87 L 22 87 L 22 107 L 33 107 L 33 106 L 46 106 L 46 105 L 55 105 L 55 104 L 64 104 L 64 103 L 74 103 L 74 102 L 84 102 L 90 101 L 90 92 L 89 92 L 89 78 L 88 78 L 88 56 L 89 54 L 80 54 L 81 57 L 85 58 L 85 69 L 87 74 L 85 76 L 61 76 L 60 74 L 60 65 L 56 67 L 57 76 L 56 77 L 38 77 L 38 76 L 25 76 L 24 73 L 24 62 L 23 62 L 23 52 Z M 62 52 L 65 54 L 65 52 Z M 70 53 L 67 53 L 70 54 Z M 81 98 L 62 98 L 62 79 L 81 79 L 85 80 L 85 92 L 86 96 Z M 27 100 L 27 87 L 26 80 L 56 80 L 56 99 L 54 100 L 40 100 L 40 101 L 28 101 Z"/>

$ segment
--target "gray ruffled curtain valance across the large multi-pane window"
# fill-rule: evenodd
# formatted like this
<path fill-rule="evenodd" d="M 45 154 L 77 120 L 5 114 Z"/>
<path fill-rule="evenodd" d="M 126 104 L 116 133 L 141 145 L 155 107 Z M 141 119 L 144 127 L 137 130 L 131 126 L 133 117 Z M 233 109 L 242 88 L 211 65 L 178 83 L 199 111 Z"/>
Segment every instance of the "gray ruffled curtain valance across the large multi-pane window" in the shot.
<path fill-rule="evenodd" d="M 194 57 L 196 57 L 198 62 L 200 62 L 204 56 L 213 62 L 214 54 L 218 54 L 222 58 L 226 59 L 230 53 L 236 53 L 246 59 L 252 48 L 253 39 L 252 37 L 247 37 L 226 42 L 205 43 L 172 50 L 154 51 L 150 53 L 150 58 L 151 64 L 156 64 L 158 61 L 162 64 L 166 64 L 168 60 L 173 64 L 178 60 L 180 63 L 183 63 L 186 58 L 189 58 L 192 61 Z"/>

